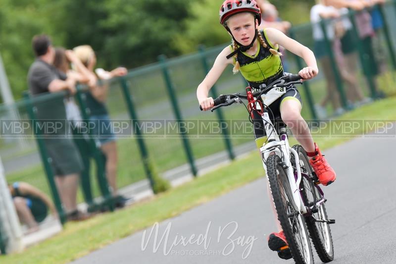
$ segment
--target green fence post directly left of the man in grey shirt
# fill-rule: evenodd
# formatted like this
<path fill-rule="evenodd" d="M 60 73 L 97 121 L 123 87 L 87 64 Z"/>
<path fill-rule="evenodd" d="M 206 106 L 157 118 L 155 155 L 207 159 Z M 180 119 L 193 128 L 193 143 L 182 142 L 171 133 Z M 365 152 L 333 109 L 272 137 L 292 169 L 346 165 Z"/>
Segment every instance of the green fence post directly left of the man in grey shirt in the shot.
<path fill-rule="evenodd" d="M 37 126 L 38 120 L 37 120 L 36 114 L 34 112 L 33 104 L 32 104 L 32 101 L 31 101 L 31 98 L 30 98 L 28 92 L 25 91 L 23 93 L 23 97 L 26 102 L 27 112 L 30 116 L 30 119 L 32 119 L 33 133 L 36 135 L 36 142 L 39 147 L 40 157 L 41 157 L 41 160 L 43 161 L 44 170 L 47 174 L 47 180 L 49 183 L 49 189 L 51 190 L 52 200 L 53 200 L 53 203 L 55 204 L 56 211 L 58 212 L 60 222 L 62 224 L 64 224 L 66 222 L 66 214 L 63 211 L 62 203 L 59 198 L 59 193 L 58 193 L 58 190 L 56 189 L 54 175 L 53 175 L 51 166 L 49 165 L 49 157 L 48 157 L 47 149 L 44 145 L 43 138 L 41 138 L 41 136 L 42 136 L 41 130 L 40 129 L 36 130 L 36 127 L 38 127 Z"/>

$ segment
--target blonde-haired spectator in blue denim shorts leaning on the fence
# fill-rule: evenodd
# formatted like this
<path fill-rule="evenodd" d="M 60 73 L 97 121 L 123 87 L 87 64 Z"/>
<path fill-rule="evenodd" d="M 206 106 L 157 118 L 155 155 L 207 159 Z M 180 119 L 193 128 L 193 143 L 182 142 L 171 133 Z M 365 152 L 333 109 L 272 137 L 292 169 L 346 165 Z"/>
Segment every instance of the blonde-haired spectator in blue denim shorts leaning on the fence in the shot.
<path fill-rule="evenodd" d="M 97 141 L 106 158 L 106 177 L 111 187 L 112 195 L 116 199 L 116 207 L 123 207 L 127 199 L 117 195 L 117 145 L 115 142 L 115 135 L 112 132 L 108 111 L 105 106 L 109 85 L 107 82 L 97 82 L 97 78 L 99 78 L 99 80 L 108 80 L 113 77 L 124 76 L 127 74 L 127 69 L 124 67 L 118 67 L 112 71 L 95 69 L 97 62 L 96 55 L 89 45 L 75 47 L 73 51 L 84 66 L 87 67 L 91 76 L 96 78 L 95 85 L 91 85 L 89 91 L 86 93 L 86 103 L 90 109 L 90 122 L 93 122 L 94 125 L 91 134 Z M 81 69 L 77 69 L 77 71 L 81 71 Z"/>

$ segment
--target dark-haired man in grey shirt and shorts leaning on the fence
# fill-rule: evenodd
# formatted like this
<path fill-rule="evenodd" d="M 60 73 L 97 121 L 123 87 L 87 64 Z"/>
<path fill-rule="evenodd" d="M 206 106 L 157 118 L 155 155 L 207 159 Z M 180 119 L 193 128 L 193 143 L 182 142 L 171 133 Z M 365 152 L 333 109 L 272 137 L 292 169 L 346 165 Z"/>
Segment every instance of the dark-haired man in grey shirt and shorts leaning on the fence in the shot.
<path fill-rule="evenodd" d="M 28 85 L 32 95 L 69 91 L 76 92 L 76 80 L 68 78 L 53 65 L 54 48 L 46 35 L 35 36 L 32 41 L 36 60 L 28 73 Z M 83 169 L 80 153 L 71 138 L 66 137 L 66 110 L 63 97 L 54 97 L 43 103 L 37 103 L 37 117 L 41 123 L 61 121 L 62 128 L 49 134 L 44 131 L 44 142 L 51 158 L 51 167 L 55 183 L 69 220 L 81 220 L 86 215 L 77 210 L 77 188 L 79 174 Z M 45 120 L 45 121 L 44 121 Z M 46 127 L 44 125 L 43 127 Z"/>

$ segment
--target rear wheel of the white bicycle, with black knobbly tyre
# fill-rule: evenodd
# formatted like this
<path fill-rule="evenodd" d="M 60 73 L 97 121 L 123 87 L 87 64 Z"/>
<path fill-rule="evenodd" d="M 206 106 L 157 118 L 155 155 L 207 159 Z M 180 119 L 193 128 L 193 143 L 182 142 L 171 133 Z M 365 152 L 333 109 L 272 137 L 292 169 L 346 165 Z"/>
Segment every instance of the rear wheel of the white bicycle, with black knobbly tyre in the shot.
<path fill-rule="evenodd" d="M 293 149 L 298 153 L 301 172 L 304 172 L 308 176 L 302 175 L 300 183 L 300 189 L 303 189 L 301 192 L 302 200 L 305 205 L 312 207 L 317 202 L 321 201 L 323 196 L 315 187 L 314 180 L 312 179 L 313 169 L 309 164 L 305 150 L 299 145 L 293 146 Z M 294 159 L 292 159 L 292 162 L 293 160 Z M 293 163 L 295 165 L 295 162 Z M 324 263 L 331 262 L 334 259 L 334 249 L 330 225 L 328 223 L 315 221 L 315 219 L 328 220 L 325 203 L 313 208 L 312 215 L 306 217 L 306 224 L 320 260 Z"/>

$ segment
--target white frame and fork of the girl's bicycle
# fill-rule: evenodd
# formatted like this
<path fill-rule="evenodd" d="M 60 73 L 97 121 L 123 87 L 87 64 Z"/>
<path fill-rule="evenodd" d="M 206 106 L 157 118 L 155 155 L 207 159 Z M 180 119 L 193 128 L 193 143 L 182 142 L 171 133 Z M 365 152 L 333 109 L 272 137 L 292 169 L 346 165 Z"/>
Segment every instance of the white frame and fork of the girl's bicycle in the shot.
<path fill-rule="evenodd" d="M 282 95 L 280 95 L 280 96 L 282 96 Z M 264 105 L 267 105 L 266 102 L 264 102 Z M 294 198 L 293 200 L 297 207 L 296 209 L 299 209 L 300 213 L 304 214 L 307 212 L 307 209 L 304 206 L 304 202 L 302 201 L 302 198 L 301 198 L 301 195 L 299 192 L 299 185 L 301 182 L 301 169 L 300 169 L 300 166 L 296 166 L 296 169 L 297 169 L 297 180 L 296 180 L 294 171 L 293 171 L 293 166 L 292 166 L 292 163 L 290 162 L 290 157 L 291 157 L 291 155 L 293 155 L 295 157 L 296 164 L 300 164 L 297 151 L 295 151 L 293 148 L 290 147 L 289 139 L 288 139 L 287 135 L 285 135 L 285 137 L 283 139 L 281 139 L 279 137 L 278 133 L 276 132 L 276 130 L 274 128 L 274 125 L 272 124 L 272 122 L 269 118 L 267 111 L 265 111 L 263 114 L 261 114 L 261 118 L 263 120 L 264 129 L 265 129 L 265 133 L 267 135 L 267 142 L 268 142 L 268 143 L 264 143 L 263 146 L 260 148 L 260 152 L 263 157 L 263 167 L 265 170 L 265 174 L 268 177 L 267 166 L 265 165 L 265 160 L 267 160 L 270 155 L 275 153 L 275 155 L 278 155 L 280 158 L 282 158 L 283 163 L 287 166 L 287 170 L 286 170 L 287 176 L 289 179 L 290 188 L 293 193 L 293 198 Z"/>

